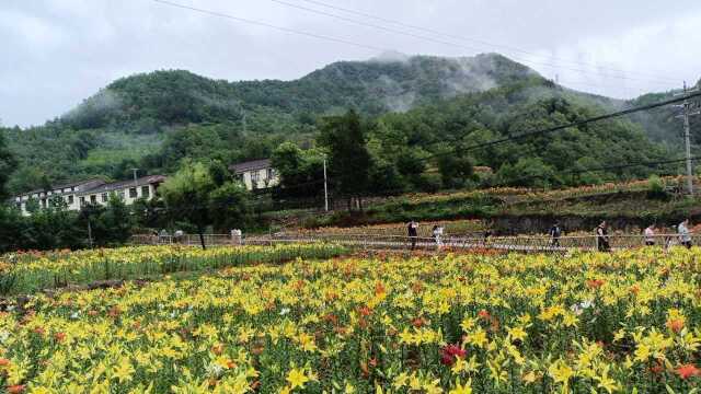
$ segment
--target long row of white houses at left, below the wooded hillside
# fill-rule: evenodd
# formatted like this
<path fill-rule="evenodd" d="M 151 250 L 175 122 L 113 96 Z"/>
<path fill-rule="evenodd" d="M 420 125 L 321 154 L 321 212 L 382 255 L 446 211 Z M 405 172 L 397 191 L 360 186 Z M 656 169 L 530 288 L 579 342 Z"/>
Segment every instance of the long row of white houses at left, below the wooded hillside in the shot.
<path fill-rule="evenodd" d="M 163 181 L 165 181 L 163 175 L 151 175 L 115 183 L 105 183 L 103 179 L 73 182 L 15 196 L 13 202 L 24 216 L 30 215 L 27 209 L 30 200 L 36 200 L 39 208 L 47 208 L 56 197 L 61 198 L 69 210 L 80 210 L 88 204 L 107 205 L 111 194 L 122 198 L 126 205 L 131 205 L 139 198 L 152 199 Z"/>

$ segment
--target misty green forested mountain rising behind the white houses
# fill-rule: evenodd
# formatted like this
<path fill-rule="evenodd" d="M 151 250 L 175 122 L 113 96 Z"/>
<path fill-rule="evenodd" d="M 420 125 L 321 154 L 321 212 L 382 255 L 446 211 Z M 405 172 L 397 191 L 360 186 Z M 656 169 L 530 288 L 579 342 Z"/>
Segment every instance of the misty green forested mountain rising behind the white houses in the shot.
<path fill-rule="evenodd" d="M 336 62 L 289 82 L 227 82 L 183 70 L 136 74 L 42 127 L 2 130 L 19 162 L 8 185 L 16 193 L 95 175 L 125 178 L 133 167 L 172 173 L 185 158 L 266 158 L 284 141 L 311 148 L 320 118 L 353 108 L 368 125 L 377 187 L 436 189 L 479 181 L 448 175 L 457 164 L 445 152 L 624 104 L 564 90 L 499 55 L 411 57 Z M 498 176 L 489 182 L 501 184 L 644 176 L 648 169 L 579 178 L 564 170 L 677 157 L 670 149 L 680 127 L 670 109 L 659 109 L 452 159 L 490 166 Z M 538 176 L 522 179 L 525 173 Z"/>

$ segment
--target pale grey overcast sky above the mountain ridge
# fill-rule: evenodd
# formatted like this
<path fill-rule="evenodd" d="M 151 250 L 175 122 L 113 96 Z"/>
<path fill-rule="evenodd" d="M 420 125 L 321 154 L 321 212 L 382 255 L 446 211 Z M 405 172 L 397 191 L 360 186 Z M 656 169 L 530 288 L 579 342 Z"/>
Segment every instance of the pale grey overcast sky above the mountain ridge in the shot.
<path fill-rule="evenodd" d="M 290 80 L 382 50 L 440 56 L 497 51 L 548 78 L 558 76 L 564 85 L 616 97 L 701 78 L 698 0 L 279 0 L 406 34 L 274 0 L 170 1 L 358 46 L 153 0 L 1 0 L 2 124 L 43 124 L 135 72 L 187 69 L 230 81 Z"/>

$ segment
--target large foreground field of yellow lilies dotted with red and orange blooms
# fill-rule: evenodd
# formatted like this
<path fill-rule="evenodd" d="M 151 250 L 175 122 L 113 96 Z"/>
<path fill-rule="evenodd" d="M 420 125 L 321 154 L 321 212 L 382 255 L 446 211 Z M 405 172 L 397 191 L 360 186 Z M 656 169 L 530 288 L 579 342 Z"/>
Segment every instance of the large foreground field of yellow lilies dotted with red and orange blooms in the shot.
<path fill-rule="evenodd" d="M 700 257 L 297 259 L 37 293 L 0 314 L 0 383 L 10 393 L 689 393 L 701 379 Z"/>

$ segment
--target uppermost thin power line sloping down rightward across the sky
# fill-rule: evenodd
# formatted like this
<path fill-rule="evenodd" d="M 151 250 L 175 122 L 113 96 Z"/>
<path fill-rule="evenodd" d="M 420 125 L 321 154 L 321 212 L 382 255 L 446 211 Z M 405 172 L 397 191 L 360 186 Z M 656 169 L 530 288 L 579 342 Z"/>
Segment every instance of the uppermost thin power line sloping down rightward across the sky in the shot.
<path fill-rule="evenodd" d="M 439 31 L 436 31 L 436 30 L 433 30 L 433 28 L 428 28 L 428 27 L 424 27 L 424 26 L 418 26 L 418 25 L 409 24 L 409 23 L 405 23 L 405 22 L 401 22 L 401 21 L 397 21 L 397 20 L 392 20 L 392 19 L 388 19 L 388 18 L 372 15 L 372 14 L 367 13 L 367 12 L 361 12 L 361 11 L 350 10 L 350 9 L 343 8 L 343 7 L 329 4 L 326 2 L 322 2 L 322 1 L 318 1 L 318 0 L 299 0 L 299 1 L 303 1 L 303 2 L 315 4 L 315 5 L 321 5 L 321 7 L 324 7 L 324 8 L 327 8 L 327 9 L 343 11 L 343 12 L 347 12 L 347 13 L 350 13 L 350 14 L 355 14 L 355 15 L 359 15 L 359 16 L 364 16 L 364 18 L 369 18 L 369 19 L 372 19 L 372 20 L 376 20 L 376 21 L 381 21 L 381 22 L 384 22 L 384 23 L 391 23 L 391 24 L 394 24 L 394 25 L 398 25 L 398 26 L 409 27 L 409 28 L 413 28 L 413 30 L 430 33 L 430 34 L 434 34 L 434 35 L 439 35 L 439 36 L 452 38 L 452 39 L 458 39 L 458 40 L 462 40 L 462 42 L 478 43 L 480 45 L 487 46 L 487 47 L 504 48 L 504 49 L 513 50 L 513 51 L 520 53 L 520 54 L 524 54 L 524 55 L 529 55 L 529 56 L 535 56 L 535 57 L 540 57 L 540 58 L 550 58 L 550 59 L 553 59 L 553 60 L 562 61 L 562 62 L 568 62 L 568 63 L 577 65 L 577 66 L 594 67 L 594 68 L 601 69 L 601 70 L 606 69 L 606 70 L 614 71 L 614 72 L 624 72 L 624 73 L 635 73 L 635 74 L 639 74 L 639 76 L 647 76 L 647 77 L 654 78 L 655 80 L 657 80 L 659 82 L 665 81 L 665 83 L 677 81 L 677 80 L 670 79 L 668 77 L 658 77 L 658 76 L 655 76 L 655 74 L 640 72 L 640 71 L 627 71 L 627 70 L 610 68 L 610 67 L 606 67 L 606 66 L 587 63 L 587 62 L 583 62 L 583 61 L 559 59 L 559 58 L 556 58 L 554 56 L 544 56 L 544 55 L 537 54 L 537 53 L 533 53 L 533 51 L 524 50 L 521 48 L 517 48 L 517 47 L 514 47 L 514 46 L 508 46 L 508 45 L 503 45 L 503 44 L 494 44 L 494 43 L 490 43 L 490 42 L 482 40 L 482 39 L 469 38 L 469 37 L 459 36 L 459 35 L 455 35 L 455 34 L 448 34 L 448 33 L 439 32 Z"/>

